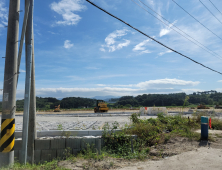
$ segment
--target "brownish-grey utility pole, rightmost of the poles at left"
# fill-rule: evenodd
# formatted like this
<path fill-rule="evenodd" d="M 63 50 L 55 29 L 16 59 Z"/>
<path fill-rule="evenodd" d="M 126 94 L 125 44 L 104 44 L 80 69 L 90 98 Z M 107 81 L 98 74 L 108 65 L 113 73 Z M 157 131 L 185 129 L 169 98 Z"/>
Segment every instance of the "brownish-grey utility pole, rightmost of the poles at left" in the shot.
<path fill-rule="evenodd" d="M 27 161 L 30 164 L 34 164 L 34 142 L 35 139 L 37 138 L 35 122 L 36 122 L 35 55 L 34 55 L 34 31 L 32 27 L 32 77 L 31 77 L 31 96 L 30 96 L 30 108 L 29 108 L 29 130 L 28 130 L 29 135 L 28 135 L 28 154 L 27 154 L 28 155 Z"/>

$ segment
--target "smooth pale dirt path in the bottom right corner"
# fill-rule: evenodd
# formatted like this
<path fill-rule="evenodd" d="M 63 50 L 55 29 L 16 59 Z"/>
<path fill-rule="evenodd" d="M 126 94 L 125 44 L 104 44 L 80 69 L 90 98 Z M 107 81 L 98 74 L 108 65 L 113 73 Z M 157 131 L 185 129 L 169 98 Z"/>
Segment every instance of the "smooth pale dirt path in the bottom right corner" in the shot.
<path fill-rule="evenodd" d="M 201 147 L 159 161 L 145 161 L 119 170 L 220 170 L 222 169 L 222 149 Z"/>

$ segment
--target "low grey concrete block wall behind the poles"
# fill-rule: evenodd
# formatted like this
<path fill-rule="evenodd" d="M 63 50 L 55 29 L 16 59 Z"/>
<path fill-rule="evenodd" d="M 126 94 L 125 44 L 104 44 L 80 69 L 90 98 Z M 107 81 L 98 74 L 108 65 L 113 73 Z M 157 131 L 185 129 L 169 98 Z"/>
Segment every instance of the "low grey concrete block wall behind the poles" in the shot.
<path fill-rule="evenodd" d="M 102 138 L 60 138 L 35 140 L 35 163 L 52 161 L 55 158 L 65 158 L 68 154 L 77 155 L 81 150 L 86 149 L 87 144 L 93 146 L 94 151 L 101 152 L 104 142 Z M 101 144 L 102 143 L 102 144 Z M 15 140 L 15 159 L 19 160 L 21 154 L 22 140 Z"/>

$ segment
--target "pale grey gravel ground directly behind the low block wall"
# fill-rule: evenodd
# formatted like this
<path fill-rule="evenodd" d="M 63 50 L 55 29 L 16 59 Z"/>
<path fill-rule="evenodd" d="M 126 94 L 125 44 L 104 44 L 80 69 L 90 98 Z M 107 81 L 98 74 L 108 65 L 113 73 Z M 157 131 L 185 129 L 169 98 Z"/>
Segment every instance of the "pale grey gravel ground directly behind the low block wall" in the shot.
<path fill-rule="evenodd" d="M 1 116 L 0 116 L 1 117 Z M 150 116 L 144 116 L 150 118 Z M 129 116 L 105 116 L 105 117 L 71 117 L 70 115 L 37 115 L 36 129 L 43 130 L 100 130 L 105 123 L 112 126 L 118 122 L 120 127 L 130 123 Z M 15 130 L 21 131 L 23 116 L 15 116 Z M 0 125 L 1 127 L 1 125 Z"/>

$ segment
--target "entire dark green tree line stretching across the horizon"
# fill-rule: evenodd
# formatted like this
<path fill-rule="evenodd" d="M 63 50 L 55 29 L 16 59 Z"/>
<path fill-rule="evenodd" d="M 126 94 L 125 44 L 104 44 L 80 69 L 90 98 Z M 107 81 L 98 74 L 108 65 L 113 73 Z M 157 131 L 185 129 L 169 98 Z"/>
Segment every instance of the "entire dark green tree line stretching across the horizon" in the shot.
<path fill-rule="evenodd" d="M 188 100 L 185 100 L 185 99 Z M 108 102 L 109 103 L 109 102 Z M 186 93 L 173 94 L 143 94 L 138 96 L 122 96 L 120 98 L 110 99 L 108 107 L 140 107 L 140 106 L 189 106 L 189 105 L 222 105 L 222 93 L 201 94 L 196 93 L 186 95 Z M 53 97 L 36 97 L 37 110 L 54 109 L 60 105 L 61 109 L 71 108 L 93 108 L 96 105 L 96 99 L 82 97 L 66 97 L 58 100 Z M 23 111 L 24 99 L 16 101 L 16 110 Z M 0 102 L 0 111 L 2 111 L 2 102 Z"/>

